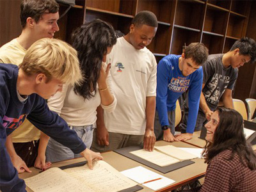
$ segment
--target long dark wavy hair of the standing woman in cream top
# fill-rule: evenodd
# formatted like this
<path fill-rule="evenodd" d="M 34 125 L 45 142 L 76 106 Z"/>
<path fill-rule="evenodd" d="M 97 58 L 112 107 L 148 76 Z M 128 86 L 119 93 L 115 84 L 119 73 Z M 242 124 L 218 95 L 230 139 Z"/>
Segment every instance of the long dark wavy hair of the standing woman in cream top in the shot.
<path fill-rule="evenodd" d="M 102 58 L 107 54 L 108 47 L 116 44 L 115 30 L 107 22 L 96 19 L 77 28 L 72 33 L 72 41 L 84 77 L 80 86 L 74 86 L 74 91 L 84 99 L 90 99 L 97 92 Z"/>

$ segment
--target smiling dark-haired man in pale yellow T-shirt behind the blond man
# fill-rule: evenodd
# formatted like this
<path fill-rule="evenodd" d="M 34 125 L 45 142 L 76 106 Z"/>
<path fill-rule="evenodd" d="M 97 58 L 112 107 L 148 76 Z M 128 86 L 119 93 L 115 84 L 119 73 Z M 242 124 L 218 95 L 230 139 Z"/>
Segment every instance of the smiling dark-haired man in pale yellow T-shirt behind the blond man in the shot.
<path fill-rule="evenodd" d="M 55 0 L 24 0 L 20 4 L 20 22 L 22 32 L 0 48 L 0 62 L 20 65 L 28 48 L 41 38 L 53 38 L 59 31 L 59 5 Z M 40 138 L 40 140 L 39 140 Z M 12 143 L 13 142 L 13 143 Z M 6 141 L 6 148 L 13 166 L 19 173 L 30 172 L 29 166 L 45 169 L 51 166 L 45 163 L 45 151 L 40 150 L 47 143 L 47 136 L 25 120 Z M 13 148 L 14 147 L 14 148 Z"/>

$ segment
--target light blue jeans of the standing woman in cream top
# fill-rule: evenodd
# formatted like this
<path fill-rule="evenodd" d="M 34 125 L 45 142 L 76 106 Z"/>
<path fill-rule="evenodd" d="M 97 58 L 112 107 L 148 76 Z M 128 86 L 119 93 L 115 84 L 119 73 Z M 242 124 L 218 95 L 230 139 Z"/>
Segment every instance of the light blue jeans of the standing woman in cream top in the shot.
<path fill-rule="evenodd" d="M 79 138 L 83 140 L 87 148 L 91 147 L 94 130 L 93 125 L 86 125 L 80 127 L 70 126 L 70 129 L 74 129 L 74 131 L 76 131 L 77 136 L 79 136 Z M 48 142 L 45 155 L 47 161 L 50 161 L 51 163 L 81 157 L 80 154 L 74 154 L 72 150 L 70 150 L 70 148 L 61 145 L 52 138 L 50 138 Z"/>

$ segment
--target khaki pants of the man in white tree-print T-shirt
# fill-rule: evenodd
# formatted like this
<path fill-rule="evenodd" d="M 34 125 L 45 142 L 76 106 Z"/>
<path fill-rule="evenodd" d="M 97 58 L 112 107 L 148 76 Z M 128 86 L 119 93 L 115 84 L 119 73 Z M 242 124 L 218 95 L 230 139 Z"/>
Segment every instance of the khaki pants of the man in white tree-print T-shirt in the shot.
<path fill-rule="evenodd" d="M 102 146 L 97 142 L 97 129 L 93 132 L 92 148 L 94 152 L 106 152 L 115 150 L 117 148 L 124 148 L 134 145 L 141 145 L 143 143 L 144 135 L 122 134 L 116 132 L 109 133 L 109 145 Z"/>

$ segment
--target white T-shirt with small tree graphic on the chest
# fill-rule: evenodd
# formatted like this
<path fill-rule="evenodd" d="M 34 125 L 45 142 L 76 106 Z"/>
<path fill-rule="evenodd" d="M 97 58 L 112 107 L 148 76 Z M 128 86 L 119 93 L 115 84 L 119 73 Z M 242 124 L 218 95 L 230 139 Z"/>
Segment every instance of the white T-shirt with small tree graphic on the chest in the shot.
<path fill-rule="evenodd" d="M 107 61 L 118 100 L 113 113 L 104 113 L 108 131 L 145 134 L 146 97 L 156 96 L 156 58 L 146 47 L 137 50 L 121 37 Z"/>

